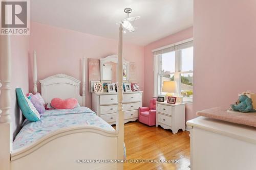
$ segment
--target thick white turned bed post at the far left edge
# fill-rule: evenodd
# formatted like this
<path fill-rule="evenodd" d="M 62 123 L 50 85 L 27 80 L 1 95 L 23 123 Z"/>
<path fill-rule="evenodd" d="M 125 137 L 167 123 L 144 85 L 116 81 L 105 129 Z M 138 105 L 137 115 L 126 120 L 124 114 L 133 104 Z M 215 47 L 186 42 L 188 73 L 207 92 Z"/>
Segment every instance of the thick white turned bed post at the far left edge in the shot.
<path fill-rule="evenodd" d="M 10 170 L 12 151 L 11 131 L 11 40 L 10 36 L 0 36 L 0 169 Z"/>

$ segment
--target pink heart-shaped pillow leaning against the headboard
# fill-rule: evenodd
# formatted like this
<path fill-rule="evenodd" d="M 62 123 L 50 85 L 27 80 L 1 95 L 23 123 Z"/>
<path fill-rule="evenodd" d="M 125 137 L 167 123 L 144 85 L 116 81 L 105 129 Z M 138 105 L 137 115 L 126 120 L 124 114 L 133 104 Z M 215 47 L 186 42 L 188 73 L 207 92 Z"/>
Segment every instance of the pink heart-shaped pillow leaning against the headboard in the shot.
<path fill-rule="evenodd" d="M 73 109 L 77 106 L 78 102 L 75 98 L 69 98 L 69 99 L 59 99 L 54 98 L 51 101 L 51 106 L 55 109 Z"/>

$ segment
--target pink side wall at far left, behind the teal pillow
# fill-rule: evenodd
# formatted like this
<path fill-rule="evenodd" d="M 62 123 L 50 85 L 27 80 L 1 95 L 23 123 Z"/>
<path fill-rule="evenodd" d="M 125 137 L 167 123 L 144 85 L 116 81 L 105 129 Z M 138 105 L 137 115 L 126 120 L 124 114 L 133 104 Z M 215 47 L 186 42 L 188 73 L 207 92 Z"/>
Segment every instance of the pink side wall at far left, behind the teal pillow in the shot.
<path fill-rule="evenodd" d="M 24 93 L 28 93 L 28 36 L 11 36 L 11 55 L 12 55 L 12 82 L 11 82 L 11 99 L 16 99 L 15 88 L 21 87 Z M 22 113 L 18 108 L 16 100 L 12 100 L 11 116 L 12 130 L 15 136 L 20 130 L 22 123 Z"/>

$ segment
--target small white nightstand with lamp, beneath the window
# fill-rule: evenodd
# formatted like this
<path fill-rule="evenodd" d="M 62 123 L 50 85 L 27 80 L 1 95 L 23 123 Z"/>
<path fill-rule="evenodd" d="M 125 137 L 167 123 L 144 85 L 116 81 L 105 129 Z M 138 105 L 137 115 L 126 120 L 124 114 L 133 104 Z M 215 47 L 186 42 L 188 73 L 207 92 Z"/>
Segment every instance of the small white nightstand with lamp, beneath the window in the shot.
<path fill-rule="evenodd" d="M 168 104 L 157 102 L 156 127 L 171 129 L 177 133 L 179 129 L 185 130 L 185 104 Z"/>

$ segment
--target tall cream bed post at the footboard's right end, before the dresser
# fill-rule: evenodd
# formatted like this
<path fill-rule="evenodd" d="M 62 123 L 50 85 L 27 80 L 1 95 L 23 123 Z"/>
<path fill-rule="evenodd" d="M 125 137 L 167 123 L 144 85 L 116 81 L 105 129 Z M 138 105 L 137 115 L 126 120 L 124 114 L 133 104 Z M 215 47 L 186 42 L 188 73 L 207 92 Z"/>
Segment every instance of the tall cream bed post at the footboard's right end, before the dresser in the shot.
<path fill-rule="evenodd" d="M 123 128 L 123 28 L 119 27 L 119 42 L 118 42 L 118 58 L 117 58 L 117 83 L 118 83 L 118 147 L 117 159 L 123 159 L 123 141 L 124 141 L 124 128 Z M 123 163 L 118 163 L 118 170 L 123 169 Z"/>

